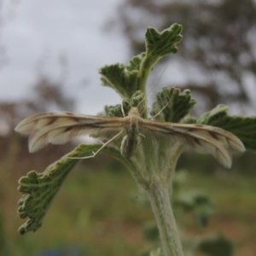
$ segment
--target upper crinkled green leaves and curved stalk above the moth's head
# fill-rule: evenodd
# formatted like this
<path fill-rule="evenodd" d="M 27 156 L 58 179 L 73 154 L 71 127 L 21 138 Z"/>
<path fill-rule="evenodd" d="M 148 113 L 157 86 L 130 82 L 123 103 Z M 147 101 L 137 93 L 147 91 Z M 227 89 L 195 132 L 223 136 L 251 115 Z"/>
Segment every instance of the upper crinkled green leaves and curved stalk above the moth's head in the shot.
<path fill-rule="evenodd" d="M 163 32 L 158 32 L 153 27 L 148 27 L 145 43 L 146 52 L 131 58 L 128 65 L 113 64 L 102 67 L 102 84 L 112 87 L 124 98 L 131 98 L 137 90 L 145 92 L 148 74 L 154 64 L 163 56 L 176 53 L 177 43 L 182 36 L 182 26 L 173 24 Z"/>

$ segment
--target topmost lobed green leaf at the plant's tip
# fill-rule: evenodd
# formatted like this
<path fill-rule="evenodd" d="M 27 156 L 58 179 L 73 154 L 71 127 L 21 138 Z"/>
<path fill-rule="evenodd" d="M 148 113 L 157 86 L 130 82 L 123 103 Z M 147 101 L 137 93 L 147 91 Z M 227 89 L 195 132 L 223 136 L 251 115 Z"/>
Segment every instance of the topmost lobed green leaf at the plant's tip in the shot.
<path fill-rule="evenodd" d="M 183 38 L 180 34 L 183 27 L 173 24 L 162 32 L 154 27 L 148 27 L 146 32 L 146 55 L 161 58 L 170 53 L 177 53 L 177 43 Z"/>

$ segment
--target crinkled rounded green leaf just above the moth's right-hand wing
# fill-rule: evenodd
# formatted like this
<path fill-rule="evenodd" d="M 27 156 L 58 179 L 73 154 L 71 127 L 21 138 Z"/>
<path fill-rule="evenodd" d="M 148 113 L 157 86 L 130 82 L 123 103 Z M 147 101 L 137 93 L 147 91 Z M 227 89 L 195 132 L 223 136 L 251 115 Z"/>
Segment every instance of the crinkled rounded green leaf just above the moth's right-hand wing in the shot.
<path fill-rule="evenodd" d="M 190 90 L 164 87 L 156 96 L 156 102 L 153 103 L 151 115 L 155 119 L 166 122 L 178 123 L 185 117 L 191 108 L 195 105 L 195 99 L 192 98 Z"/>

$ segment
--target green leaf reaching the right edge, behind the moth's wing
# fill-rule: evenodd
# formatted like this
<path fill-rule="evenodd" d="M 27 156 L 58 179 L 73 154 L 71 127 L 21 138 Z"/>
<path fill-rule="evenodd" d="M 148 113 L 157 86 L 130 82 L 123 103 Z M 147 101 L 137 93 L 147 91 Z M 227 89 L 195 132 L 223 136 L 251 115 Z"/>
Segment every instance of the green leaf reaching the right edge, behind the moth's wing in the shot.
<path fill-rule="evenodd" d="M 247 149 L 256 151 L 256 117 L 229 116 L 227 110 L 227 106 L 218 105 L 203 114 L 197 122 L 230 131 L 241 139 Z"/>

